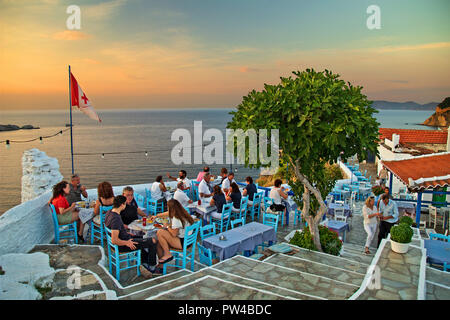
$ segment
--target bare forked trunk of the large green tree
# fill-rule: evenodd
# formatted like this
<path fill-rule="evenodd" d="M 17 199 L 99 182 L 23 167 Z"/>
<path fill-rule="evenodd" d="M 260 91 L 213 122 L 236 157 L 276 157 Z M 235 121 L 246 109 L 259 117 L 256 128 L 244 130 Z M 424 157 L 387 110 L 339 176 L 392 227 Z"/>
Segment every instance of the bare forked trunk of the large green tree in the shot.
<path fill-rule="evenodd" d="M 314 188 L 311 183 L 308 181 L 308 179 L 300 173 L 300 164 L 299 161 L 296 160 L 295 164 L 293 163 L 292 159 L 289 159 L 289 162 L 291 163 L 292 167 L 295 171 L 296 178 L 303 183 L 304 186 L 304 192 L 303 192 L 303 210 L 302 215 L 305 218 L 305 220 L 308 222 L 309 231 L 311 232 L 312 239 L 314 242 L 314 245 L 316 246 L 317 250 L 320 252 L 323 252 L 322 245 L 320 244 L 320 235 L 319 235 L 319 223 L 322 221 L 322 217 L 326 212 L 326 205 L 323 201 L 322 195 L 320 194 L 320 191 Z M 316 212 L 315 216 L 312 216 L 310 214 L 310 192 L 314 195 L 314 197 L 319 202 L 320 208 Z"/>

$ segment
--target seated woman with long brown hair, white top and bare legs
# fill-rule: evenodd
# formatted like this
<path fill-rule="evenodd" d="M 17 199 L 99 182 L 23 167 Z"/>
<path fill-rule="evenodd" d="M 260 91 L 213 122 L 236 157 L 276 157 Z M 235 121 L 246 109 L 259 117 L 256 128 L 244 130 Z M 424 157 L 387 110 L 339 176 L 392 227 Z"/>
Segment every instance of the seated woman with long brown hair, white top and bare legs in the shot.
<path fill-rule="evenodd" d="M 183 249 L 184 236 L 186 227 L 194 223 L 194 219 L 183 208 L 183 206 L 175 199 L 167 201 L 168 210 L 163 213 L 159 213 L 157 218 L 169 217 L 171 224 L 165 224 L 166 229 L 159 229 L 156 232 L 158 238 L 158 246 L 156 248 L 159 263 L 164 264 L 173 259 L 170 249 Z M 153 220 L 153 217 L 150 219 Z"/>

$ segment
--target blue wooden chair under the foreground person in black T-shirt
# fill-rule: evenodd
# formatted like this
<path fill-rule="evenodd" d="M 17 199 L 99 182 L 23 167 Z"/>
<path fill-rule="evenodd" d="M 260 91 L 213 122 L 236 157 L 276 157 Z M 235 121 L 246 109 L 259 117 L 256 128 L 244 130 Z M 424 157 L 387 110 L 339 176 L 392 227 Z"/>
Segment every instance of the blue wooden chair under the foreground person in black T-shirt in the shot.
<path fill-rule="evenodd" d="M 109 273 L 112 273 L 112 267 L 116 270 L 116 279 L 120 281 L 120 271 L 127 270 L 131 268 L 137 269 L 138 277 L 141 275 L 139 267 L 141 265 L 141 250 L 135 250 L 131 252 L 120 253 L 119 246 L 112 243 L 111 240 L 111 230 L 105 226 L 106 241 L 108 243 L 108 257 L 109 257 Z M 125 264 L 122 267 L 122 264 Z"/>

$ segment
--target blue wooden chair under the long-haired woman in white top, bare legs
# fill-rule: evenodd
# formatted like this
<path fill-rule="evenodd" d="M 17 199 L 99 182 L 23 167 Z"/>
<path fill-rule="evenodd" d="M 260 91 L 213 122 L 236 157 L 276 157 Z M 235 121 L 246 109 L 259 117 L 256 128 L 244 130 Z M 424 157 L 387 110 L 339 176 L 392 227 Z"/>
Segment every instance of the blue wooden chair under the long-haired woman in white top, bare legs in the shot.
<path fill-rule="evenodd" d="M 194 272 L 195 245 L 197 243 L 197 236 L 200 226 L 201 221 L 197 221 L 193 225 L 186 227 L 183 249 L 170 250 L 173 255 L 174 264 L 164 263 L 163 274 L 167 273 L 168 266 L 185 269 L 188 263 L 191 264 L 191 271 Z"/>

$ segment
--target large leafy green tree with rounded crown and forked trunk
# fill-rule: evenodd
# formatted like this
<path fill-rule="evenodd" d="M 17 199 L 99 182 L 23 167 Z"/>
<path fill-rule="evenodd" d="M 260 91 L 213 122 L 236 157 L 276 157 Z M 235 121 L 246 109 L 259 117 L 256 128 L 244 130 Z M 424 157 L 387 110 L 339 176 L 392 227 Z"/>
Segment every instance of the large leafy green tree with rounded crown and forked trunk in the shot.
<path fill-rule="evenodd" d="M 377 111 L 361 93 L 362 87 L 346 83 L 338 74 L 306 69 L 293 75 L 281 77 L 277 85 L 265 84 L 262 91 L 251 91 L 231 112 L 227 127 L 279 129 L 280 161 L 290 166 L 294 201 L 322 251 L 318 225 L 327 209 L 324 197 L 334 184 L 325 165 L 338 157 L 357 154 L 364 160 L 369 151 L 377 153 L 378 122 L 373 117 Z M 247 166 L 262 166 L 250 164 L 248 153 L 247 149 Z"/>

